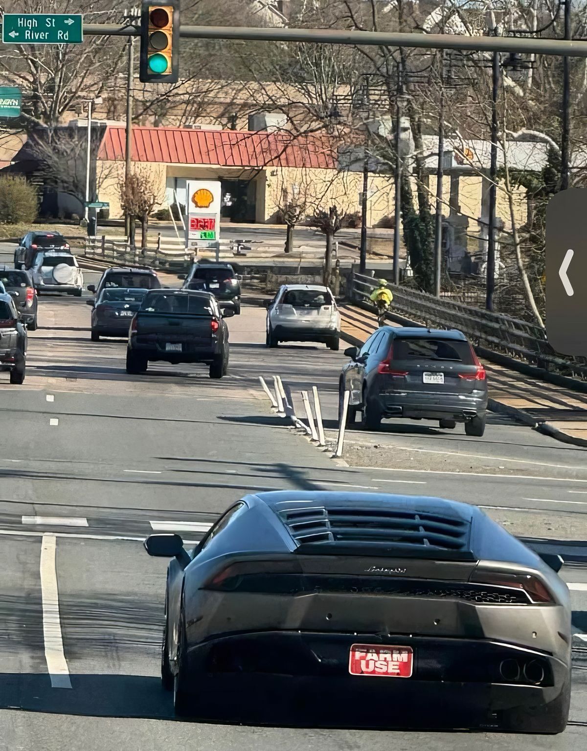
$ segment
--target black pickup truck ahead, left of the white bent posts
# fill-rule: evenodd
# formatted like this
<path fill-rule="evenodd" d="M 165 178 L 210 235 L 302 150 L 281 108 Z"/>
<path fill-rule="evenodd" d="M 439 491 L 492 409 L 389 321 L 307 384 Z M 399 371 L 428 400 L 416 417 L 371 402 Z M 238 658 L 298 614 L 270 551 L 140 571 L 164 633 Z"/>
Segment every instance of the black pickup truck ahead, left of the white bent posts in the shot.
<path fill-rule="evenodd" d="M 177 289 L 152 289 L 132 318 L 126 350 L 126 372 L 147 370 L 149 360 L 207 363 L 210 378 L 228 369 L 228 327 L 213 294 Z"/>

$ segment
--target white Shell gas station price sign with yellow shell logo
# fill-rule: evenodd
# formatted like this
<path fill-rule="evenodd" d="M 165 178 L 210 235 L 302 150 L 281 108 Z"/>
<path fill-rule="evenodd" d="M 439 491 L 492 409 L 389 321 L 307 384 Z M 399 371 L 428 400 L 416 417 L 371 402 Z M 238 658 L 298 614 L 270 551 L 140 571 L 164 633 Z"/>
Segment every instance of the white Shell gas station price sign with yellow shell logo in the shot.
<path fill-rule="evenodd" d="M 186 188 L 186 247 L 215 246 L 220 234 L 220 181 L 188 180 Z"/>

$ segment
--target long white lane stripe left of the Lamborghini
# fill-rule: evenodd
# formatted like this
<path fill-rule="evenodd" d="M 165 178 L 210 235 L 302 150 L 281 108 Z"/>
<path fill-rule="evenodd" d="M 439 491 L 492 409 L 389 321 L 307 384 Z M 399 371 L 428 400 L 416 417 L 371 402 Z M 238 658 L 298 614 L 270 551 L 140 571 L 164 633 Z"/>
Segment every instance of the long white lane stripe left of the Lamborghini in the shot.
<path fill-rule="evenodd" d="M 54 689 L 71 689 L 69 670 L 63 653 L 59 592 L 55 567 L 55 535 L 43 535 L 41 541 L 41 599 L 43 603 L 43 638 L 47 671 Z"/>

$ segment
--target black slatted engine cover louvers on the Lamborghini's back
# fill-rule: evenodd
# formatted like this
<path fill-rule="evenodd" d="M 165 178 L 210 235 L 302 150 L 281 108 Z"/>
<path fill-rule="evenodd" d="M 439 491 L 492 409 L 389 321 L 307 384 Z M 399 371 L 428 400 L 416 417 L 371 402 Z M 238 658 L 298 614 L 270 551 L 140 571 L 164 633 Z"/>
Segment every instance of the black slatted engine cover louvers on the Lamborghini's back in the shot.
<path fill-rule="evenodd" d="M 472 555 L 468 520 L 427 511 L 318 507 L 282 510 L 279 515 L 300 547 L 317 544 L 331 547 L 332 553 L 348 548 L 357 553 Z"/>

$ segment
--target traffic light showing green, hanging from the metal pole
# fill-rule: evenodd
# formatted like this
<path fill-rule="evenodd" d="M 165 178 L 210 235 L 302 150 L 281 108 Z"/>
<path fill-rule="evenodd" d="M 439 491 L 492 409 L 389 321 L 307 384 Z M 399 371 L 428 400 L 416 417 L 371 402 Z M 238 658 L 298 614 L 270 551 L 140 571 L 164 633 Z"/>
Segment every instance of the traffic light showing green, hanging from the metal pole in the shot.
<path fill-rule="evenodd" d="M 141 8 L 141 83 L 177 83 L 180 58 L 180 0 Z"/>

